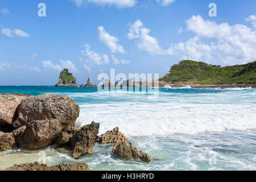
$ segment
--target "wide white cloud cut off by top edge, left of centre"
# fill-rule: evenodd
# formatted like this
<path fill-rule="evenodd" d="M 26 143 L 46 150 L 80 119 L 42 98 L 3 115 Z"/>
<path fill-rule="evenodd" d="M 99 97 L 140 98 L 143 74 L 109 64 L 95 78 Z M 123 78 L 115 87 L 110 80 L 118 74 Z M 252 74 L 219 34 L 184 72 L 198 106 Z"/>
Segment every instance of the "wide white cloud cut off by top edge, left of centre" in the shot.
<path fill-rule="evenodd" d="M 135 0 L 72 0 L 77 6 L 82 6 L 86 2 L 94 3 L 96 5 L 114 5 L 119 8 L 133 7 L 137 3 Z"/>

